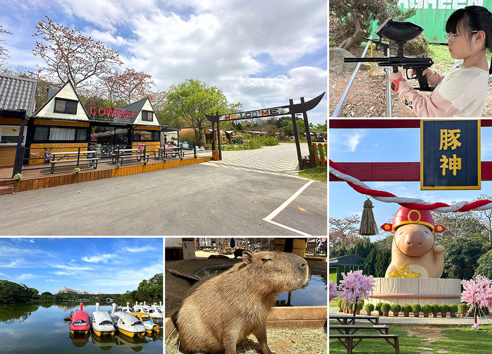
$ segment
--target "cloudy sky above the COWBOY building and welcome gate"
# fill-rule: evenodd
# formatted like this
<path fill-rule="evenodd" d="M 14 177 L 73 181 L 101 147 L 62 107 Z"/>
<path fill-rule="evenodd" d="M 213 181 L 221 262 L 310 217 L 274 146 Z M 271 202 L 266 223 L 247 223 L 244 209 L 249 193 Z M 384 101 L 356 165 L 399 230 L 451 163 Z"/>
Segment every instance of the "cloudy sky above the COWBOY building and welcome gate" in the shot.
<path fill-rule="evenodd" d="M 327 89 L 327 1 L 0 0 L 8 64 L 32 70 L 45 15 L 120 52 L 124 67 L 167 90 L 188 78 L 224 91 L 244 110 L 315 97 Z M 323 123 L 326 95 L 308 117 Z"/>

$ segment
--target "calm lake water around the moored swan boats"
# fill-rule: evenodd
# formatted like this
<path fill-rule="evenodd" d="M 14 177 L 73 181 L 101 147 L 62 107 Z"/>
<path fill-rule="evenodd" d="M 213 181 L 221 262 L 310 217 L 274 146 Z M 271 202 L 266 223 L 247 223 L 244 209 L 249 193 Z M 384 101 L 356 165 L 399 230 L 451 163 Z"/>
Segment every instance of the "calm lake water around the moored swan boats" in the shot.
<path fill-rule="evenodd" d="M 84 303 L 89 315 L 95 303 Z M 71 335 L 69 322 L 63 318 L 80 307 L 79 302 L 36 302 L 27 304 L 0 304 L 0 353 L 163 353 L 163 328 L 159 335 L 136 339 L 120 335 L 104 338 Z M 99 311 L 112 310 L 111 305 L 100 305 Z"/>

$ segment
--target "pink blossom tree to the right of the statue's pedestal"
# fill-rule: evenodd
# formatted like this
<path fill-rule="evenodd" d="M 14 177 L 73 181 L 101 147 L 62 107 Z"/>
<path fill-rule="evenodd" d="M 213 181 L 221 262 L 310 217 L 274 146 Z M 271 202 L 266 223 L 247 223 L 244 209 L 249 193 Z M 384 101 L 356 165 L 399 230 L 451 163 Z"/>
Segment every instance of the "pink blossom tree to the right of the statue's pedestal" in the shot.
<path fill-rule="evenodd" d="M 475 324 L 478 327 L 477 316 L 481 307 L 487 307 L 492 312 L 492 280 L 482 275 L 477 275 L 476 279 L 461 280 L 463 292 L 461 301 L 464 301 L 470 307 L 470 312 L 474 311 Z"/>

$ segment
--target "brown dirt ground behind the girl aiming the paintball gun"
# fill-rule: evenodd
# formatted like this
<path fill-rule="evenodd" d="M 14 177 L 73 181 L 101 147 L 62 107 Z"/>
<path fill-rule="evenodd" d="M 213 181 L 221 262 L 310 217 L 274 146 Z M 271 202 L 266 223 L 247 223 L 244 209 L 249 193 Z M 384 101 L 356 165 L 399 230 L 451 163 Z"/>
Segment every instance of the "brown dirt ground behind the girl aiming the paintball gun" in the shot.
<path fill-rule="evenodd" d="M 383 68 L 373 67 L 373 74 L 383 74 Z M 444 74 L 444 72 L 440 72 Z M 403 73 L 403 75 L 405 75 Z M 330 92 L 330 117 L 337 107 L 338 101 L 352 76 L 352 71 L 344 71 L 329 74 Z M 408 80 L 412 86 L 418 86 L 417 80 Z M 492 117 L 492 82 L 489 81 L 487 101 L 482 117 Z M 422 92 L 429 95 L 431 92 Z M 410 109 L 400 102 L 398 94 L 391 92 L 393 117 L 417 117 Z M 342 106 L 338 117 L 358 118 L 358 117 L 386 117 L 385 102 L 385 83 L 384 77 L 369 77 L 369 70 L 362 70 L 357 73 L 354 83 L 347 95 L 347 99 Z"/>

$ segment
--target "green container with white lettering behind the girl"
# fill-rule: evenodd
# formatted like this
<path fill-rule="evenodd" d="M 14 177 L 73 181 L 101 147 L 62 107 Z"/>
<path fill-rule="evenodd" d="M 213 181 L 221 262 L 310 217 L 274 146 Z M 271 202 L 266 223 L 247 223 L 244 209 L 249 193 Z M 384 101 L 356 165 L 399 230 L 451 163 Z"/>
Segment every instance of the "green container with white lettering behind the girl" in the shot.
<path fill-rule="evenodd" d="M 465 6 L 484 6 L 492 8 L 492 0 L 399 0 L 398 5 L 402 10 L 417 8 L 417 13 L 405 21 L 413 22 L 424 28 L 424 34 L 431 43 L 446 43 L 446 21 L 449 16 L 459 8 Z M 378 24 L 372 26 L 372 37 L 378 38 L 374 30 Z"/>

